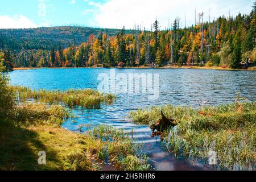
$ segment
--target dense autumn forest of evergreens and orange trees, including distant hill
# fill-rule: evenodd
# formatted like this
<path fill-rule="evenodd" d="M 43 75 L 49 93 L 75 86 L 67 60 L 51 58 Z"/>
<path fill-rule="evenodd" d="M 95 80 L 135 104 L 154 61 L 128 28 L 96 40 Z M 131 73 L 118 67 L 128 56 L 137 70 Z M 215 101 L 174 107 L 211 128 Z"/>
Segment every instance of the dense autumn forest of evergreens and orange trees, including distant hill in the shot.
<path fill-rule="evenodd" d="M 241 68 L 256 63 L 255 11 L 256 2 L 249 15 L 220 16 L 211 22 L 204 22 L 204 13 L 200 13 L 195 25 L 181 28 L 177 18 L 166 30 L 160 30 L 158 20 L 151 31 L 127 31 L 125 27 L 94 32 L 82 27 L 1 30 L 0 48 L 9 69 L 139 65 Z"/>

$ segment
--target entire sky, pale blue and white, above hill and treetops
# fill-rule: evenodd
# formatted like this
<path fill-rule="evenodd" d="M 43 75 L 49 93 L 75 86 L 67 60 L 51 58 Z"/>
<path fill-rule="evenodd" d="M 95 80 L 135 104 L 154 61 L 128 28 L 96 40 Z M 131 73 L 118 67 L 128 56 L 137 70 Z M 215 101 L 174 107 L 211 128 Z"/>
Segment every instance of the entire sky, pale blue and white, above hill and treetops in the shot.
<path fill-rule="evenodd" d="M 101 28 L 145 27 L 157 18 L 161 29 L 180 18 L 182 27 L 204 19 L 249 14 L 255 0 L 1 0 L 0 28 L 80 25 Z M 209 16 L 210 15 L 210 16 Z"/>

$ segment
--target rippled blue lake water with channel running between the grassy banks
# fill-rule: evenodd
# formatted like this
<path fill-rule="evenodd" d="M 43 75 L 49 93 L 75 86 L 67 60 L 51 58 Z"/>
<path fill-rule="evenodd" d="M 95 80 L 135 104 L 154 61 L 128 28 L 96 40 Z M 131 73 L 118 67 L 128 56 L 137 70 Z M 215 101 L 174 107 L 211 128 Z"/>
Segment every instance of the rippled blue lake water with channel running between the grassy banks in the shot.
<path fill-rule="evenodd" d="M 122 93 L 117 94 L 117 101 L 110 106 L 98 110 L 82 110 L 76 108 L 76 122 L 68 121 L 63 127 L 79 132 L 80 125 L 112 125 L 125 129 L 127 133 L 133 129 L 134 142 L 144 143 L 151 164 L 156 170 L 201 170 L 207 169 L 201 164 L 193 165 L 190 160 L 176 159 L 166 152 L 158 137 L 151 138 L 148 126 L 135 125 L 127 119 L 131 110 L 150 106 L 172 104 L 198 107 L 199 105 L 220 105 L 236 100 L 237 92 L 247 101 L 256 101 L 255 71 L 217 71 L 205 69 L 30 69 L 10 73 L 12 85 L 28 86 L 31 89 L 67 90 L 71 88 L 97 89 L 101 80 L 98 75 L 110 71 L 129 74 L 159 74 L 159 97 L 149 100 L 150 94 Z M 115 78 L 118 81 L 118 78 Z M 111 84 L 111 82 L 110 82 Z M 111 86 L 111 85 L 110 85 Z M 195 167 L 194 167 L 195 166 Z"/>

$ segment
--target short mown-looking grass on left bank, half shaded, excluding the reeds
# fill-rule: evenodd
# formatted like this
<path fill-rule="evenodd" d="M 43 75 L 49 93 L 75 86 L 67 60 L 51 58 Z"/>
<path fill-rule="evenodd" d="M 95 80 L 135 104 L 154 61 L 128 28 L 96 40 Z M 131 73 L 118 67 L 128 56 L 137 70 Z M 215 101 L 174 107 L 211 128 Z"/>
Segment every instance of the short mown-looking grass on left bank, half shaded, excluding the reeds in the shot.
<path fill-rule="evenodd" d="M 14 121 L 0 121 L 0 170 L 93 170 L 84 153 L 87 140 L 52 125 L 18 126 Z M 38 152 L 46 152 L 46 165 L 38 164 Z"/>

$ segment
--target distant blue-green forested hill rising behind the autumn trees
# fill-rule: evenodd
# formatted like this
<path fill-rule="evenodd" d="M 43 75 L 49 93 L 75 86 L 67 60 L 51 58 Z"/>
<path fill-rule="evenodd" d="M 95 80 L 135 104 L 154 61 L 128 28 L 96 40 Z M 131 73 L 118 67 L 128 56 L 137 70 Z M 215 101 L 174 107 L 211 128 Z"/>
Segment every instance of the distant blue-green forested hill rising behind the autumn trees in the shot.
<path fill-rule="evenodd" d="M 0 49 L 18 51 L 21 49 L 51 49 L 51 46 L 63 46 L 67 48 L 70 44 L 81 44 L 86 42 L 91 34 L 98 35 L 104 32 L 109 36 L 115 36 L 120 30 L 90 27 L 42 27 L 25 29 L 1 29 Z M 127 34 L 132 30 L 126 30 Z"/>

